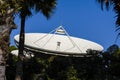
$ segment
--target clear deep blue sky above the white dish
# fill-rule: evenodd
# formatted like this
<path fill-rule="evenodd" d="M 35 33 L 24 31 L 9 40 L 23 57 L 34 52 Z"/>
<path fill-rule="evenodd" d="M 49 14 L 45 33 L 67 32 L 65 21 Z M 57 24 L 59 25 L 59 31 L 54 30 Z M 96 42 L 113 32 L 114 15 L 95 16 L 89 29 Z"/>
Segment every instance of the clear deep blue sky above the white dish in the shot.
<path fill-rule="evenodd" d="M 27 19 L 26 32 L 47 33 L 62 25 L 69 35 L 97 42 L 106 50 L 115 43 L 115 20 L 114 11 L 102 11 L 96 0 L 58 0 L 49 20 L 42 14 L 34 14 Z M 19 34 L 18 17 L 15 23 L 18 28 L 11 33 L 11 45 L 15 45 L 13 38 Z M 120 44 L 119 39 L 117 44 Z"/>

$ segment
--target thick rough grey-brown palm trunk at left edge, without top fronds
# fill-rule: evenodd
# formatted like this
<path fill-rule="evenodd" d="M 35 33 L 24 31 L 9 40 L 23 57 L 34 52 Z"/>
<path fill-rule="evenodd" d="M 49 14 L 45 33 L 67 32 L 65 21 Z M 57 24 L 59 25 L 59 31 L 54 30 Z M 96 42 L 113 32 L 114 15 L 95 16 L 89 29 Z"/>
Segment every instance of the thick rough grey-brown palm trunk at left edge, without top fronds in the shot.
<path fill-rule="evenodd" d="M 9 53 L 10 33 L 16 28 L 13 11 L 0 14 L 0 80 L 5 80 L 5 67 L 7 55 Z"/>

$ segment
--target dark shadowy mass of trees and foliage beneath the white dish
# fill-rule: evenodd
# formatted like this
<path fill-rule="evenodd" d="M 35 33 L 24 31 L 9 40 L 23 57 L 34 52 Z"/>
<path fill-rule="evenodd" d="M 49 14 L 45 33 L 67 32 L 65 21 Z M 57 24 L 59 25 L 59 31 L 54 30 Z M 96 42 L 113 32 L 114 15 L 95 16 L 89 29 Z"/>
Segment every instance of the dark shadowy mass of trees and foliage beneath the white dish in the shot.
<path fill-rule="evenodd" d="M 35 53 L 23 62 L 25 80 L 119 80 L 120 57 L 116 46 L 109 47 L 101 56 L 60 57 Z M 117 51 L 116 51 L 117 50 Z M 16 60 L 10 56 L 7 80 L 15 76 Z M 9 59 L 10 59 L 9 58 Z M 11 74 L 12 73 L 12 74 Z M 28 77 L 29 76 L 29 77 Z M 11 78 L 11 79 L 10 79 Z"/>

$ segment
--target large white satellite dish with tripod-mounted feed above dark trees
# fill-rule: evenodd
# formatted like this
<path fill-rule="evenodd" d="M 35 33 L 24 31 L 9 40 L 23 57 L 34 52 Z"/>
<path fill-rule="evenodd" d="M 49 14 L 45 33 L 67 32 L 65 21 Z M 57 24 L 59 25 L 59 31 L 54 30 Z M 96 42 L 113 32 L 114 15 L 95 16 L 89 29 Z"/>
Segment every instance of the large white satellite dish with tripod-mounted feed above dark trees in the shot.
<path fill-rule="evenodd" d="M 19 35 L 14 37 L 18 45 Z M 50 33 L 26 33 L 25 49 L 60 56 L 84 56 L 87 50 L 102 51 L 103 47 L 95 42 L 72 37 L 60 26 Z"/>

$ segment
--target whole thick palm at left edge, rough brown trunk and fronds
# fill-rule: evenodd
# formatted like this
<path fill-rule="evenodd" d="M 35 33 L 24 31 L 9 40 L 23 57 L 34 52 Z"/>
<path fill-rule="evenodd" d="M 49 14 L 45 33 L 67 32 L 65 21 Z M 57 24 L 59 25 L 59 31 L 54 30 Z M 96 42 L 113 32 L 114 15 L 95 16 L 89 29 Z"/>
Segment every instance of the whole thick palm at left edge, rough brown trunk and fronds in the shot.
<path fill-rule="evenodd" d="M 16 28 L 14 23 L 14 13 L 16 12 L 14 3 L 9 0 L 0 0 L 0 67 L 5 68 L 6 59 L 8 55 L 8 48 L 10 44 L 10 33 L 12 29 Z M 2 70 L 5 74 L 4 70 Z M 5 75 L 0 76 L 0 79 Z"/>

